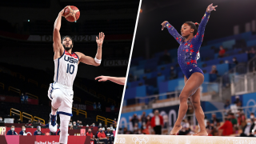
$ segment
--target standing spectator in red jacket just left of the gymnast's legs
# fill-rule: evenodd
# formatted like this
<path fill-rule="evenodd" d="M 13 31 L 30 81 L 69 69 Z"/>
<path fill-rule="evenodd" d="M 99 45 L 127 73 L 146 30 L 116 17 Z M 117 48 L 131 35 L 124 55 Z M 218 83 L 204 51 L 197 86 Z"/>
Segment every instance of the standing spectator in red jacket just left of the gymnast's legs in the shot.
<path fill-rule="evenodd" d="M 162 134 L 163 118 L 158 110 L 154 110 L 154 117 L 151 118 L 151 127 L 154 128 L 154 134 Z"/>

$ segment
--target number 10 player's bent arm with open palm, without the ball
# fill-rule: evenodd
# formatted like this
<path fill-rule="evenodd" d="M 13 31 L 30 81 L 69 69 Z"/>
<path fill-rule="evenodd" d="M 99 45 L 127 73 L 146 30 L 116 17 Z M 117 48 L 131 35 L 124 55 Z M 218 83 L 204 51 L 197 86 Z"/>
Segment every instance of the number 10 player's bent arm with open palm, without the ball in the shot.
<path fill-rule="evenodd" d="M 99 38 L 98 38 L 99 37 Z M 93 66 L 99 66 L 102 62 L 102 44 L 103 40 L 105 38 L 104 33 L 99 33 L 98 37 L 96 37 L 96 42 L 98 44 L 98 50 L 95 58 L 91 58 L 89 56 L 86 56 L 85 54 L 82 54 L 80 52 L 75 52 L 75 54 L 78 54 L 79 62 L 86 63 L 87 65 L 93 65 Z"/>

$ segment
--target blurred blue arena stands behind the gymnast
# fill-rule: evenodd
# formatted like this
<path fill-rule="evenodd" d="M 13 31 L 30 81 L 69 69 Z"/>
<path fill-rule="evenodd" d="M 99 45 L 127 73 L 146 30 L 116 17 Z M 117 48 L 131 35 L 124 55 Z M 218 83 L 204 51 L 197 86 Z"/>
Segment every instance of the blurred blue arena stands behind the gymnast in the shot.
<path fill-rule="evenodd" d="M 178 43 L 167 30 L 161 30 L 161 23 L 170 22 L 179 33 L 184 22 L 201 22 L 211 3 L 218 7 L 210 14 L 198 59 L 205 76 L 201 105 L 205 122 L 209 121 L 213 127 L 208 133 L 223 135 L 225 118 L 238 122 L 228 136 L 243 134 L 246 118 L 251 117 L 254 125 L 256 2 L 148 0 L 142 1 L 118 134 L 154 134 L 151 120 L 143 120 L 148 116 L 151 119 L 154 110 L 159 110 L 163 117 L 162 134 L 170 133 L 178 117 L 178 95 L 184 86 L 184 75 L 177 62 Z M 218 54 L 220 46 L 226 50 L 222 58 Z M 218 74 L 212 66 L 216 66 Z M 171 67 L 174 69 L 170 70 Z M 188 123 L 188 134 L 194 134 L 198 131 L 198 122 L 191 103 L 188 105 L 184 118 L 187 122 L 182 125 Z M 143 112 L 146 115 L 142 118 Z M 216 121 L 220 123 L 216 125 Z M 250 132 L 252 135 L 254 131 Z"/>

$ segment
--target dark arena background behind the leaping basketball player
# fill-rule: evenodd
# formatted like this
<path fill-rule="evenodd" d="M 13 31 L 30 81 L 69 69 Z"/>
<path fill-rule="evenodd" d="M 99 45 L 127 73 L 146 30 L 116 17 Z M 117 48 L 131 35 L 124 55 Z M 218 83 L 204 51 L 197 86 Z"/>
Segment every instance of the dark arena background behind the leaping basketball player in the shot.
<path fill-rule="evenodd" d="M 115 125 L 123 86 L 114 82 L 97 82 L 94 78 L 100 75 L 126 76 L 138 5 L 139 0 L 2 2 L 0 117 L 14 118 L 17 127 L 26 125 L 29 119 L 34 122 L 41 119 L 42 129 L 48 123 L 50 100 L 47 93 L 54 78 L 54 21 L 65 6 L 77 6 L 81 14 L 78 21 L 68 22 L 62 17 L 60 30 L 61 36 L 70 35 L 74 39 L 73 51 L 94 58 L 97 52 L 96 35 L 104 32 L 106 38 L 102 45 L 101 66 L 81 63 L 78 67 L 74 80 L 74 116 L 71 119 L 82 121 L 82 126 L 90 126 L 94 122 L 96 131 L 99 122 L 102 126 Z M 22 93 L 27 93 L 28 104 L 21 104 Z M 94 102 L 97 110 L 94 110 Z M 10 129 L 10 125 L 8 127 Z M 96 131 L 93 131 L 94 135 Z"/>

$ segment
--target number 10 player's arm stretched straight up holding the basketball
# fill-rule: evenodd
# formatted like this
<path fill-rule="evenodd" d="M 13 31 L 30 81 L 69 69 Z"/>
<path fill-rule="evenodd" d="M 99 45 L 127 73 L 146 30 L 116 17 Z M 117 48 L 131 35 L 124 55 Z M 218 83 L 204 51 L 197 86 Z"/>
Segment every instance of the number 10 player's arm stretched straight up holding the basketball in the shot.
<path fill-rule="evenodd" d="M 54 22 L 54 37 L 53 37 L 54 53 L 58 53 L 59 50 L 62 48 L 62 40 L 61 40 L 61 34 L 59 34 L 59 30 L 61 29 L 62 16 L 63 16 L 65 8 L 58 13 L 58 17 L 56 18 L 56 20 Z"/>

